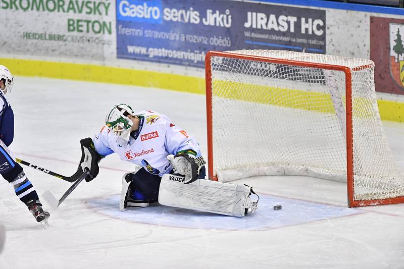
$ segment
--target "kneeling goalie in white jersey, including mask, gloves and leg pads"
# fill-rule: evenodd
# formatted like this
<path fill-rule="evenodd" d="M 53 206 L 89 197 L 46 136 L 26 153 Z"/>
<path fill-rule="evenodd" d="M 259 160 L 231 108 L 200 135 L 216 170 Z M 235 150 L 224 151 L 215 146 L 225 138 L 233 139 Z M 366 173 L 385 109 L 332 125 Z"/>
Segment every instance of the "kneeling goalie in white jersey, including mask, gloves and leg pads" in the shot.
<path fill-rule="evenodd" d="M 135 165 L 135 171 L 122 177 L 121 211 L 159 202 L 244 217 L 257 208 L 249 186 L 205 180 L 206 162 L 199 144 L 163 114 L 135 113 L 129 105 L 117 104 L 108 112 L 106 125 L 80 144 L 79 169 L 89 169 L 87 182 L 98 175 L 99 161 L 114 152 Z"/>

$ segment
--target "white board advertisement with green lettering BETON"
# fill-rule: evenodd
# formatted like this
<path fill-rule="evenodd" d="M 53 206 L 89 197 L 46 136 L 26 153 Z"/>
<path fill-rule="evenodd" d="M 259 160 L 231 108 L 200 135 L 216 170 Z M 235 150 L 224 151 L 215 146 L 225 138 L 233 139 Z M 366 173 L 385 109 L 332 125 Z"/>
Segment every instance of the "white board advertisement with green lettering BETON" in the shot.
<path fill-rule="evenodd" d="M 115 58 L 115 1 L 1 0 L 0 53 Z"/>

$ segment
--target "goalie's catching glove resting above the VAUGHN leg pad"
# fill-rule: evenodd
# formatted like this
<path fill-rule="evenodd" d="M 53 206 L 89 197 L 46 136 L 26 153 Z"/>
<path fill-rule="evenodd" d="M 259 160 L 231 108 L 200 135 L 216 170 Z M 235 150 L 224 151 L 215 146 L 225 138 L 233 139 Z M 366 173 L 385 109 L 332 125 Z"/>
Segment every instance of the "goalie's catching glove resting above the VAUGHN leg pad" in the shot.
<path fill-rule="evenodd" d="M 184 184 L 197 180 L 200 168 L 206 164 L 202 156 L 195 158 L 194 155 L 187 153 L 168 155 L 167 159 L 170 161 L 174 173 L 185 177 Z"/>

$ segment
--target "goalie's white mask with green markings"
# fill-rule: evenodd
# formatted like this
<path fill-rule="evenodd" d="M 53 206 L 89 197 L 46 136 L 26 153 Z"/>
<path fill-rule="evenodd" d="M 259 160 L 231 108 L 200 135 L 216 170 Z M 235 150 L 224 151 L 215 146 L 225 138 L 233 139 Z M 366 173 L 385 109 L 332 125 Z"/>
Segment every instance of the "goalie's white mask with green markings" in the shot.
<path fill-rule="evenodd" d="M 128 115 L 136 116 L 132 107 L 121 103 L 112 107 L 105 119 L 107 127 L 126 142 L 129 141 L 130 128 L 133 126 L 133 122 L 128 118 Z"/>

